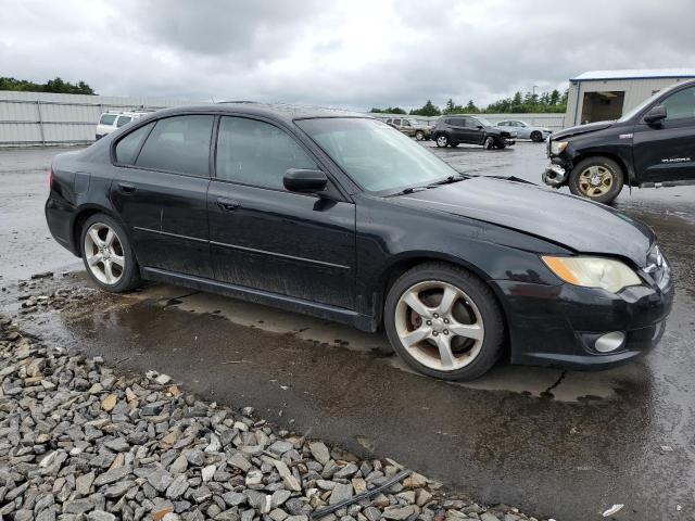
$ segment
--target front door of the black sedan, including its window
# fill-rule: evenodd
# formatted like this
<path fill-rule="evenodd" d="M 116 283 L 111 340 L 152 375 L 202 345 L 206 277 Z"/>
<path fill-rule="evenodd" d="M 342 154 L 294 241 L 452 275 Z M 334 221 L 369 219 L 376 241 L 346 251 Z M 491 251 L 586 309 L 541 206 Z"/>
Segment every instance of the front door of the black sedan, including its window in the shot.
<path fill-rule="evenodd" d="M 207 200 L 215 278 L 354 309 L 354 204 L 287 191 L 289 168 L 318 165 L 275 125 L 220 118 Z"/>

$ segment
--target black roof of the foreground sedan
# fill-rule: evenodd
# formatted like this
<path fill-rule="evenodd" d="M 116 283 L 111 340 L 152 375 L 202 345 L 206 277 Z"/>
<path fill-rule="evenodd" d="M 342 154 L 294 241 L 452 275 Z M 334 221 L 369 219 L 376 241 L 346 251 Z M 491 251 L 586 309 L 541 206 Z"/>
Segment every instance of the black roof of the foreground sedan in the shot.
<path fill-rule="evenodd" d="M 372 116 L 358 112 L 343 111 L 339 109 L 325 109 L 304 105 L 289 105 L 285 103 L 258 103 L 251 101 L 231 101 L 220 103 L 208 103 L 204 105 L 176 106 L 159 111 L 156 116 L 187 114 L 194 112 L 218 113 L 218 114 L 248 114 L 262 116 L 270 119 L 291 123 L 295 119 L 311 119 L 324 117 L 362 117 L 374 119 Z"/>

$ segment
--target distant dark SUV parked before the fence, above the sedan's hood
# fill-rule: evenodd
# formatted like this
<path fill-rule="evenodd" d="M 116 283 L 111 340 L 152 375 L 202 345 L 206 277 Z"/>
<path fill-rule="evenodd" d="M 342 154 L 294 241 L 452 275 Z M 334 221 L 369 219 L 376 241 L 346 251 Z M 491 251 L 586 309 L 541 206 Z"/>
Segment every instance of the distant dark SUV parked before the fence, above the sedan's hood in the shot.
<path fill-rule="evenodd" d="M 479 116 L 443 116 L 432 129 L 438 147 L 458 147 L 459 143 L 482 144 L 486 150 L 504 149 L 515 143 L 515 132 L 502 130 Z"/>

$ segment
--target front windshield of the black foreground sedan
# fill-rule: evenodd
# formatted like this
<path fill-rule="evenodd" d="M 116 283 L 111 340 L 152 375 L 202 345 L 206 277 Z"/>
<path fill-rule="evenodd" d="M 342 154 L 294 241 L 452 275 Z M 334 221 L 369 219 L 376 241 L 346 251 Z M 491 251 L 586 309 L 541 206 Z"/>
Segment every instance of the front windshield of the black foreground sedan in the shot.
<path fill-rule="evenodd" d="M 396 192 L 458 175 L 427 149 L 377 119 L 332 117 L 296 124 L 368 192 Z"/>

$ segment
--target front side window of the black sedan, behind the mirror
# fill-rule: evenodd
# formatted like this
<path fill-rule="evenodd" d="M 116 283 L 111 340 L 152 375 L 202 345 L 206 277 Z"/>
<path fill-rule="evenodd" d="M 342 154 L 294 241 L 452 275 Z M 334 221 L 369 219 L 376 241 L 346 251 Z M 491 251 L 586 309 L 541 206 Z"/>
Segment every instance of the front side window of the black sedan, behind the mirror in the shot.
<path fill-rule="evenodd" d="M 219 179 L 285 190 L 290 168 L 318 169 L 296 141 L 275 125 L 244 117 L 224 116 L 217 138 Z"/>

